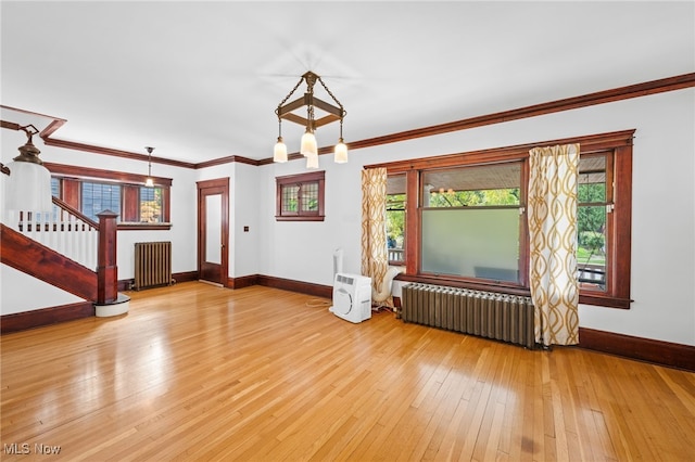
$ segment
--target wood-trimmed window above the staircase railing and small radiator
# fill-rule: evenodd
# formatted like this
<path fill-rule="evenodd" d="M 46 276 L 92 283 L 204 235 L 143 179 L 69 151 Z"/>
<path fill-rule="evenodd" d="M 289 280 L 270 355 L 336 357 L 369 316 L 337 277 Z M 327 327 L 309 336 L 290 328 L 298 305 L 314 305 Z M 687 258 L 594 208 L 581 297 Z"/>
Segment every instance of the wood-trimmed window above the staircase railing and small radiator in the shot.
<path fill-rule="evenodd" d="M 109 209 L 118 214 L 119 230 L 169 229 L 172 180 L 155 178 L 146 187 L 144 176 L 99 170 L 70 165 L 48 164 L 53 195 L 91 220 Z"/>

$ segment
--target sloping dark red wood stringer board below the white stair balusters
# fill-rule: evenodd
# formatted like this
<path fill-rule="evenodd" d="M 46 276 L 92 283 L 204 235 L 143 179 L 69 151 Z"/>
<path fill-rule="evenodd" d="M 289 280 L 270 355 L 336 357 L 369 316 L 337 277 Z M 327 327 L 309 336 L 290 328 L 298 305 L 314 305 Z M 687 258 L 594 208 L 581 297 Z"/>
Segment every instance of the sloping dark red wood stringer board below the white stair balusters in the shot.
<path fill-rule="evenodd" d="M 97 273 L 0 223 L 0 260 L 18 271 L 90 301 L 97 300 Z"/>

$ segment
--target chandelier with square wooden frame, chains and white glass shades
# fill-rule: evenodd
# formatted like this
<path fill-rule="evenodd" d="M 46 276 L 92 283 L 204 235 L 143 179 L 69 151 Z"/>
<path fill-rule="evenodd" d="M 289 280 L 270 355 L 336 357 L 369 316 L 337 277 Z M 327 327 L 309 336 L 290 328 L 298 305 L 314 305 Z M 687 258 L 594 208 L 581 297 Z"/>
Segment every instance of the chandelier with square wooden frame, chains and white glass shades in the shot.
<path fill-rule="evenodd" d="M 314 95 L 314 85 L 317 81 L 324 87 L 324 89 L 326 89 L 326 92 L 330 95 L 330 98 L 333 99 L 336 105 L 319 100 Z M 302 82 L 306 82 L 306 91 L 304 95 L 288 103 L 287 101 L 294 93 L 294 91 L 296 91 L 300 85 L 302 85 Z M 306 106 L 306 117 L 302 117 L 292 113 L 292 111 L 295 111 L 303 106 Z M 316 119 L 314 114 L 315 108 L 325 111 L 327 114 L 324 117 Z M 332 121 L 340 120 L 340 138 L 338 140 L 338 144 L 336 144 L 334 161 L 339 164 L 348 162 L 348 146 L 343 142 L 343 118 L 348 113 L 343 108 L 343 105 L 340 103 L 340 101 L 338 101 L 333 93 L 328 89 L 326 84 L 324 84 L 324 80 L 321 80 L 320 76 L 314 74 L 311 70 L 305 73 L 302 78 L 300 78 L 300 81 L 294 86 L 292 91 L 290 91 L 290 93 L 285 97 L 285 100 L 280 102 L 278 108 L 275 110 L 275 114 L 278 116 L 280 132 L 273 153 L 274 162 L 287 162 L 287 145 L 282 141 L 281 134 L 282 119 L 287 119 L 305 127 L 305 131 L 302 136 L 300 144 L 300 154 L 306 157 L 307 168 L 318 168 L 318 144 L 316 142 L 316 136 L 314 134 L 316 128 L 321 127 L 326 124 L 330 124 Z"/>

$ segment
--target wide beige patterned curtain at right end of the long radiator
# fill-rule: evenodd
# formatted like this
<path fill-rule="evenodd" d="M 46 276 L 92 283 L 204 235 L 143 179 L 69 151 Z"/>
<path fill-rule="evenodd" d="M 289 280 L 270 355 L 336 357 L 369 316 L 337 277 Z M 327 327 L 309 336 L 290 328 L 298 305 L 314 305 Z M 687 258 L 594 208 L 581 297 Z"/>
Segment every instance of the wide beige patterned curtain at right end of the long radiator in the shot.
<path fill-rule="evenodd" d="M 545 346 L 579 343 L 578 165 L 579 144 L 530 151 L 529 279 L 535 342 Z"/>

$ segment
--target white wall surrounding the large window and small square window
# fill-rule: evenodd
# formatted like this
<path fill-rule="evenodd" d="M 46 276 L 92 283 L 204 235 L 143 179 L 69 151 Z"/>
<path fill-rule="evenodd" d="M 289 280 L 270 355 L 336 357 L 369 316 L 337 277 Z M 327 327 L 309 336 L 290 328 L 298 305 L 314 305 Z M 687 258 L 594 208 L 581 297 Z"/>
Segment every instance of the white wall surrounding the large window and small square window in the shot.
<path fill-rule="evenodd" d="M 580 306 L 580 325 L 695 345 L 695 90 L 508 121 L 353 151 L 350 163 L 321 156 L 326 221 L 276 222 L 275 177 L 306 171 L 303 162 L 262 167 L 260 272 L 331 284 L 332 252 L 359 272 L 361 169 L 400 161 L 636 129 L 633 150 L 631 309 Z M 267 243 L 267 245 L 266 245 Z"/>

